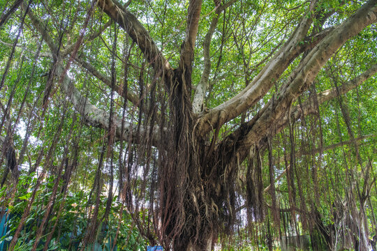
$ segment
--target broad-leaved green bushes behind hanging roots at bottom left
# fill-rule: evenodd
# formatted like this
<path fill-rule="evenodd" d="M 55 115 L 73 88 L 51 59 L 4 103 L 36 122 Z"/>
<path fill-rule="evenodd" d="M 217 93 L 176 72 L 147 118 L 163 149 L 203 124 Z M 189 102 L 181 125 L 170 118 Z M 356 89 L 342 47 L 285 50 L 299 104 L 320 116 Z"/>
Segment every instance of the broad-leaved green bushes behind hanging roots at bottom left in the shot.
<path fill-rule="evenodd" d="M 10 213 L 10 218 L 7 222 L 9 231 L 6 236 L 1 238 L 1 241 L 11 241 L 15 229 L 20 223 L 22 214 L 27 208 L 29 198 L 33 186 L 36 185 L 36 174 L 32 173 L 30 175 L 22 175 L 20 177 L 20 182 L 17 186 L 17 200 L 13 206 L 9 206 L 8 210 Z M 42 222 L 43 216 L 45 215 L 47 203 L 50 201 L 52 195 L 52 187 L 54 185 L 53 178 L 47 178 L 40 185 L 40 189 L 37 192 L 35 202 L 31 206 L 31 211 L 27 215 L 25 220 L 25 225 L 22 228 L 20 237 L 17 240 L 17 246 L 15 250 L 30 250 L 35 243 L 36 231 Z M 29 187 L 29 188 L 28 188 Z M 2 188 L 0 193 L 6 190 Z M 37 250 L 42 250 L 45 241 L 47 240 L 47 235 L 52 231 L 52 227 L 57 224 L 52 239 L 48 245 L 47 250 L 76 250 L 80 248 L 80 243 L 86 234 L 87 227 L 89 224 L 89 215 L 86 210 L 86 205 L 88 204 L 89 192 L 69 192 L 66 197 L 59 195 L 54 202 L 55 212 L 49 215 L 49 221 L 45 235 L 42 236 L 38 244 Z M 100 219 L 103 216 L 106 200 L 103 199 L 103 208 L 100 212 Z M 61 207 L 62 206 L 62 207 Z M 61 210 L 59 211 L 59 209 Z M 138 229 L 135 228 L 135 224 L 131 218 L 131 215 L 127 211 L 123 211 L 122 219 L 119 219 L 121 215 L 121 205 L 117 201 L 117 197 L 114 197 L 112 201 L 111 211 L 109 215 L 108 222 L 101 222 L 101 226 L 98 229 L 98 234 L 95 239 L 95 243 L 91 244 L 95 246 L 95 250 L 112 250 L 112 245 L 114 245 L 115 236 L 117 236 L 117 248 L 118 250 L 144 250 L 147 242 L 140 235 Z M 61 215 L 58 215 L 60 212 Z M 58 219 L 59 217 L 59 219 Z M 58 221 L 58 222 L 57 222 Z M 120 225 L 119 225 L 120 221 Z M 117 227 L 119 225 L 119 234 L 117 235 Z M 90 245 L 87 246 L 90 250 Z"/>

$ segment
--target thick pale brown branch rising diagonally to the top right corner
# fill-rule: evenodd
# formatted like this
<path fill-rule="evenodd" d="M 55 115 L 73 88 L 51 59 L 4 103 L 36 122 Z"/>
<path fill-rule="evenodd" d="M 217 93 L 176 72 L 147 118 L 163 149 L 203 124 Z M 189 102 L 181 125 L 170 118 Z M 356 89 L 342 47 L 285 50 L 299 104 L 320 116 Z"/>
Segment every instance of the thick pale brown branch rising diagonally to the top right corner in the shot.
<path fill-rule="evenodd" d="M 332 31 L 323 39 L 297 67 L 295 78 L 286 84 L 286 88 L 279 92 L 279 98 L 270 100 L 267 109 L 260 118 L 253 124 L 252 130 L 248 133 L 246 145 L 256 143 L 261 132 L 267 132 L 273 123 L 288 110 L 288 107 L 298 96 L 313 82 L 322 66 L 330 59 L 348 39 L 362 31 L 366 26 L 377 21 L 376 0 L 369 1 L 360 8 L 348 20 L 343 22 L 339 28 Z M 346 90 L 346 89 L 345 89 Z M 244 146 L 246 146 L 244 145 Z"/>

